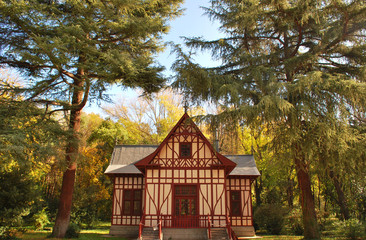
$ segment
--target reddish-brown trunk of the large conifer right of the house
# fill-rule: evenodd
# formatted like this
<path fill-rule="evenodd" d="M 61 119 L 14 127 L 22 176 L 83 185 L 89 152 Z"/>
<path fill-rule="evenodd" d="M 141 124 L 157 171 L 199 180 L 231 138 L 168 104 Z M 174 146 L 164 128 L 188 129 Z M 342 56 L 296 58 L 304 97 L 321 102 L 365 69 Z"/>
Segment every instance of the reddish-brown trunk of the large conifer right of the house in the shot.
<path fill-rule="evenodd" d="M 299 156 L 295 157 L 295 167 L 300 188 L 300 202 L 304 224 L 304 239 L 320 239 L 320 232 L 315 213 L 314 196 L 311 191 L 311 181 L 308 168 L 304 161 L 299 158 Z"/>

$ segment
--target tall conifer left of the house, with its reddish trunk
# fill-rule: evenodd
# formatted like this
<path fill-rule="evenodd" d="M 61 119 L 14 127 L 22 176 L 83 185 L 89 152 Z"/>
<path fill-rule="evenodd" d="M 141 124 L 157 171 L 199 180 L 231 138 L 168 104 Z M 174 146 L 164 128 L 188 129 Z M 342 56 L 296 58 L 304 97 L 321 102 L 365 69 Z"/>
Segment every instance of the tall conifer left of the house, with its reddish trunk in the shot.
<path fill-rule="evenodd" d="M 164 84 L 154 61 L 167 21 L 182 0 L 0 1 L 0 64 L 24 74 L 27 101 L 69 112 L 60 205 L 53 229 L 63 237 L 70 221 L 79 152 L 81 110 L 103 99 L 113 83 L 146 93 Z"/>

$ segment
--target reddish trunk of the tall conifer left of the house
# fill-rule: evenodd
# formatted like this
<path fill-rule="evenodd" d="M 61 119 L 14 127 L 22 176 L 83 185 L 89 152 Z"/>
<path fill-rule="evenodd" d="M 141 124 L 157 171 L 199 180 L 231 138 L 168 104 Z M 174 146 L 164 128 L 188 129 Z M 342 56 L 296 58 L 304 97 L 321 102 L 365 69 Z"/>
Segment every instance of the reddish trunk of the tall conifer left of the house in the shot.
<path fill-rule="evenodd" d="M 67 228 L 70 223 L 70 214 L 72 206 L 72 195 L 74 192 L 74 183 L 76 176 L 77 158 L 79 154 L 79 131 L 81 123 L 81 109 L 84 91 L 82 90 L 84 82 L 74 81 L 75 88 L 72 97 L 73 108 L 70 111 L 69 129 L 72 135 L 68 139 L 66 147 L 66 163 L 68 167 L 64 172 L 62 179 L 60 202 L 56 216 L 55 226 L 53 228 L 52 237 L 65 237 Z"/>

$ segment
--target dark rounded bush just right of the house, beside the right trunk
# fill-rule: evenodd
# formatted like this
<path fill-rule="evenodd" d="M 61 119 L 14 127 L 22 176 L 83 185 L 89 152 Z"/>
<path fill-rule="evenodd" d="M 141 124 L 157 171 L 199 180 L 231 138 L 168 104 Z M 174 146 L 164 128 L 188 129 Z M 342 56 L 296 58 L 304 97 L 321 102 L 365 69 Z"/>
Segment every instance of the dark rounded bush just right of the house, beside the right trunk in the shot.
<path fill-rule="evenodd" d="M 286 212 L 280 204 L 263 204 L 254 212 L 254 221 L 260 229 L 278 235 L 284 226 Z"/>

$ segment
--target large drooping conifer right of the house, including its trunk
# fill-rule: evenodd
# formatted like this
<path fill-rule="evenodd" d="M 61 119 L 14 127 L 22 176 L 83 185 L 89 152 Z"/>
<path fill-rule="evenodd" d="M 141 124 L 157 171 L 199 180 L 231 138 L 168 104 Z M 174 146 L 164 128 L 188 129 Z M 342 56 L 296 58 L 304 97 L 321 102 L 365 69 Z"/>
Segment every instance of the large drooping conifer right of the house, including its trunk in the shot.
<path fill-rule="evenodd" d="M 221 65 L 202 68 L 177 49 L 174 85 L 193 99 L 228 106 L 222 115 L 276 126 L 274 143 L 290 150 L 296 168 L 305 239 L 319 239 L 311 191 L 311 169 L 319 160 L 314 149 L 337 122 L 365 113 L 366 5 L 212 0 L 206 13 L 226 37 L 191 38 L 187 45 L 211 51 Z"/>

